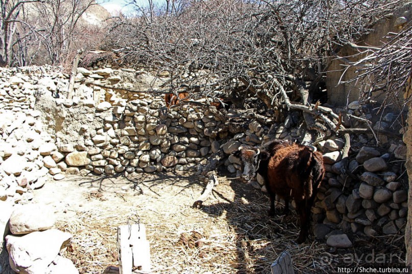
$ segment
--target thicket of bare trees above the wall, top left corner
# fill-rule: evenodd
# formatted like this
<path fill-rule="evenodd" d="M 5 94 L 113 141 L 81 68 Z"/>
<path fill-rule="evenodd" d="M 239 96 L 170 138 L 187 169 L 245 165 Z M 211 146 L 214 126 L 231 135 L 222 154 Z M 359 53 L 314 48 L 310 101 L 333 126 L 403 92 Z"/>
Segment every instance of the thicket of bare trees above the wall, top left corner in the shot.
<path fill-rule="evenodd" d="M 93 0 L 0 0 L 0 65 L 70 64 L 80 47 L 95 46 L 102 30 L 82 16 Z M 93 36 L 95 36 L 93 38 Z"/>

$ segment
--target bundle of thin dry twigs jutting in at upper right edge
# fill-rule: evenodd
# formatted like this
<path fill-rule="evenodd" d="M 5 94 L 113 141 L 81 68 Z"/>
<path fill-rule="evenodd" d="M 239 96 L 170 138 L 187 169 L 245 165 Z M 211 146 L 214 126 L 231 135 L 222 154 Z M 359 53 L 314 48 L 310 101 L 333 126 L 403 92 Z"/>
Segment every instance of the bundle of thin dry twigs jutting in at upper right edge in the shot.
<path fill-rule="evenodd" d="M 356 55 L 362 56 L 358 61 L 345 62 L 340 83 L 360 83 L 362 100 L 369 100 L 375 94 L 383 94 L 382 107 L 394 105 L 402 109 L 411 98 L 402 98 L 407 86 L 408 77 L 411 75 L 412 54 L 410 54 L 410 40 L 412 39 L 412 25 L 407 23 L 400 26 L 397 33 L 389 33 L 383 38 L 381 46 L 359 46 L 351 43 L 356 49 Z M 356 68 L 357 75 L 348 80 L 343 80 L 349 68 Z"/>

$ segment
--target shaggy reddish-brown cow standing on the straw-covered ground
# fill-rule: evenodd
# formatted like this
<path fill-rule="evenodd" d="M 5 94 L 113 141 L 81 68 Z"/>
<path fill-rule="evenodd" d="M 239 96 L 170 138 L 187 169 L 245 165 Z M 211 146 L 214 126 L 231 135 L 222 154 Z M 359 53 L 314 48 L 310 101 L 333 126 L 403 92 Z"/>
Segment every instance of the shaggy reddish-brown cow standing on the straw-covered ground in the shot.
<path fill-rule="evenodd" d="M 295 199 L 301 224 L 297 242 L 304 242 L 310 209 L 325 176 L 322 154 L 293 142 L 273 140 L 260 149 L 239 147 L 234 155 L 243 163 L 243 181 L 249 182 L 256 173 L 264 178 L 271 200 L 269 215 L 275 214 L 276 194 L 285 201 L 285 214 L 289 211 L 289 200 Z"/>

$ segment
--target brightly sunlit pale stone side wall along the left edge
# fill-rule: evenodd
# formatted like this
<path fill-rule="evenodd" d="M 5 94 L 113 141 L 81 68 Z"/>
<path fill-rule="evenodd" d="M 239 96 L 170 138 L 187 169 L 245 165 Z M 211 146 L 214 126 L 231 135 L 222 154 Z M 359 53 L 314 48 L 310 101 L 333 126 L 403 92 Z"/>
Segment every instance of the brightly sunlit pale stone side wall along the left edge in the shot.
<path fill-rule="evenodd" d="M 57 90 L 50 84 L 56 70 L 0 70 L 0 201 L 31 200 L 32 189 L 43 186 L 49 173 L 49 158 L 56 157 L 55 140 L 43 129 L 41 113 L 34 110 L 36 92 Z"/>

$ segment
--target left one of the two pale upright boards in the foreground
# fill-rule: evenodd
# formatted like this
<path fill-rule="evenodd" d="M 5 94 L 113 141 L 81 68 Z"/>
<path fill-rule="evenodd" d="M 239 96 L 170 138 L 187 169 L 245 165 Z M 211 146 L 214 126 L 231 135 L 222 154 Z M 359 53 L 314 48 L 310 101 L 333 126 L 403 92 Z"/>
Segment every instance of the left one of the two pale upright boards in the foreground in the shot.
<path fill-rule="evenodd" d="M 117 228 L 117 251 L 119 261 L 119 274 L 132 274 L 133 254 L 130 248 L 130 226 Z"/>

